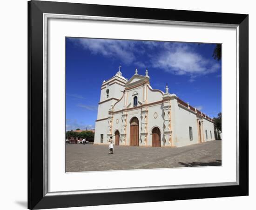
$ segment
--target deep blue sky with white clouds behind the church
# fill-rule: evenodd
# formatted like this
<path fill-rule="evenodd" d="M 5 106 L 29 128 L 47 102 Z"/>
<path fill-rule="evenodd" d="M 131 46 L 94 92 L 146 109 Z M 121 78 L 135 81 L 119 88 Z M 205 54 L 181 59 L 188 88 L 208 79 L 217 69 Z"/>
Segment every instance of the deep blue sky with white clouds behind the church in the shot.
<path fill-rule="evenodd" d="M 169 92 L 210 117 L 221 112 L 221 60 L 215 44 L 66 38 L 66 130 L 93 129 L 101 84 L 118 72 L 148 68 L 153 89 Z"/>

